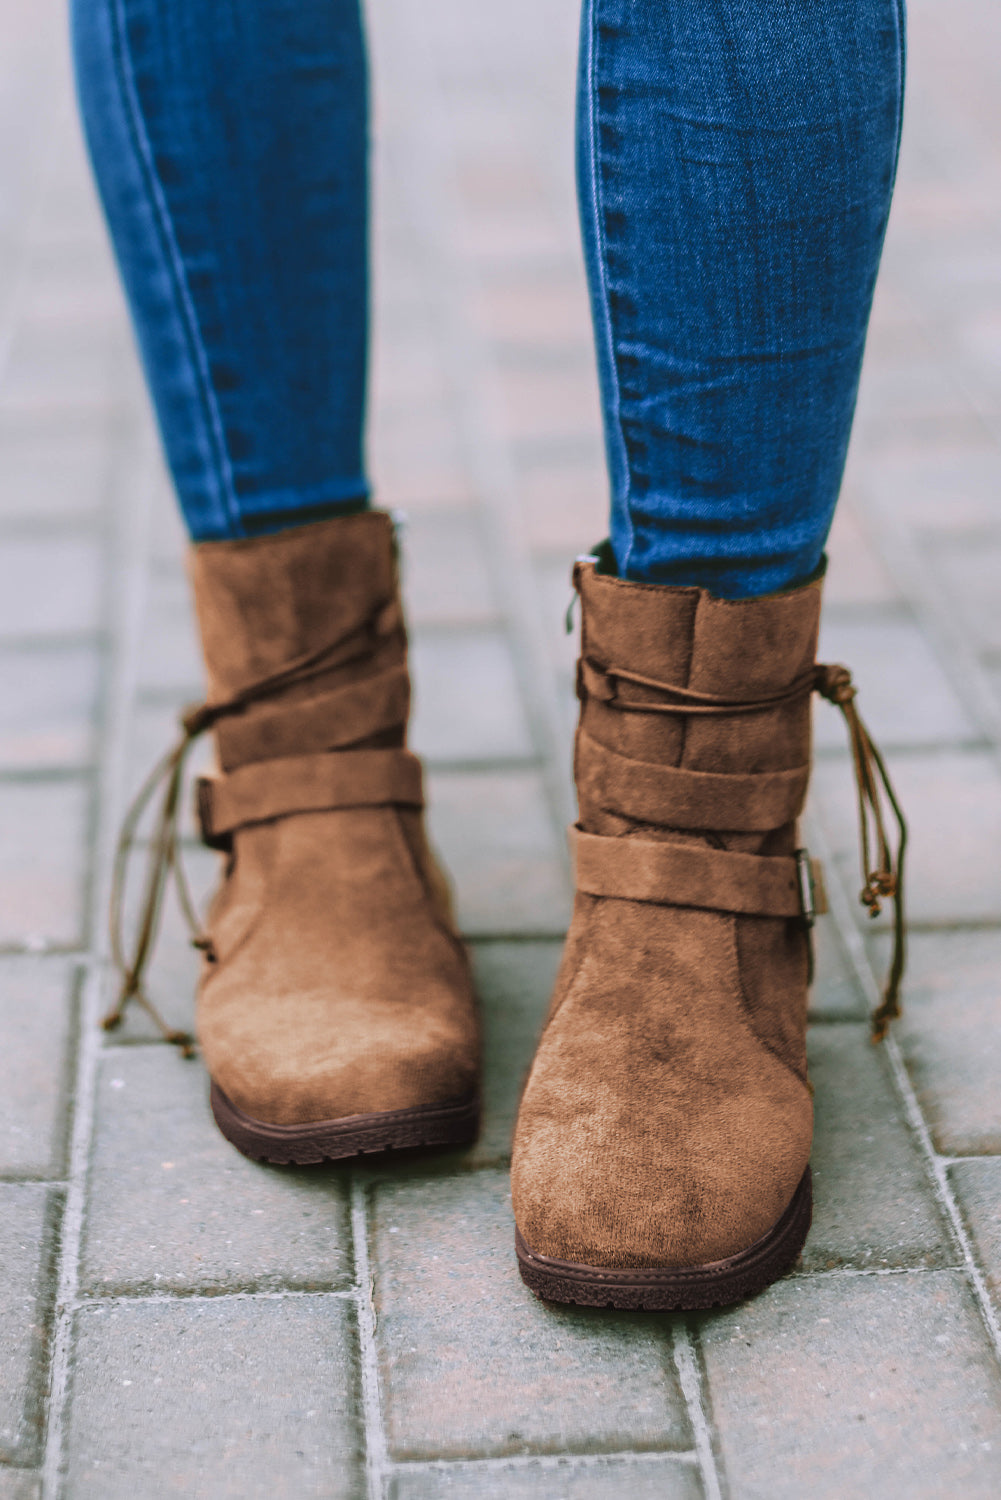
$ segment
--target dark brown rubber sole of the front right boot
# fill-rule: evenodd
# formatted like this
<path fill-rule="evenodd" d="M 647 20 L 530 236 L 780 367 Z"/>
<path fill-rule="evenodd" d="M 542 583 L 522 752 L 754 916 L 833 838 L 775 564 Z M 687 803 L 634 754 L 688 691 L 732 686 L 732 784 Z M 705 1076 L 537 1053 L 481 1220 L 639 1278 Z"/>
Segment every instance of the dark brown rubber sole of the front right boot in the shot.
<path fill-rule="evenodd" d="M 570 1260 L 536 1256 L 515 1230 L 521 1280 L 546 1302 L 578 1302 L 590 1308 L 639 1308 L 648 1312 L 693 1311 L 743 1302 L 792 1266 L 813 1216 L 810 1168 L 803 1173 L 792 1202 L 755 1245 L 728 1260 L 705 1266 L 651 1266 L 605 1269 Z"/>

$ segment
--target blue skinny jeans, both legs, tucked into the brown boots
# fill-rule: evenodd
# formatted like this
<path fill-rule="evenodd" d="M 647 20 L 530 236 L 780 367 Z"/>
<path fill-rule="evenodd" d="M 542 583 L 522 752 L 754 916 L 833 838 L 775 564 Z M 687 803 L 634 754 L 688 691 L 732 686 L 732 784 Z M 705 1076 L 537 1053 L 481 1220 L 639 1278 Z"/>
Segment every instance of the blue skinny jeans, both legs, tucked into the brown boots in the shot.
<path fill-rule="evenodd" d="M 357 0 L 72 0 L 192 537 L 368 504 Z M 578 188 L 620 574 L 819 564 L 893 192 L 903 0 L 584 0 Z"/>

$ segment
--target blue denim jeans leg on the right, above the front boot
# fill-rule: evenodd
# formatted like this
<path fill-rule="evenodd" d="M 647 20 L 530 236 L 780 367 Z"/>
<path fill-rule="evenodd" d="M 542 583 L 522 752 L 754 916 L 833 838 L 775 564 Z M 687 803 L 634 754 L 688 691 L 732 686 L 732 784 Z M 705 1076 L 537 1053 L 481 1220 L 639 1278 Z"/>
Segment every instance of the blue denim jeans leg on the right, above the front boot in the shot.
<path fill-rule="evenodd" d="M 890 208 L 903 0 L 584 0 L 578 183 L 623 576 L 816 568 Z"/>

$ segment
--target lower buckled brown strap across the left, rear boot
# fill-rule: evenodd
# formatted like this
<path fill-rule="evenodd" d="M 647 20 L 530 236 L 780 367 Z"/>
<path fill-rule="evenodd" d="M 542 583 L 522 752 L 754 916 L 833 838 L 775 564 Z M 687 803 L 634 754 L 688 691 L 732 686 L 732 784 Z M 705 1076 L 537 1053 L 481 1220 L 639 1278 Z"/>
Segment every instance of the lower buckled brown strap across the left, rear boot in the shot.
<path fill-rule="evenodd" d="M 198 820 L 210 846 L 248 824 L 294 813 L 387 804 L 423 807 L 420 760 L 410 750 L 341 750 L 255 760 L 227 776 L 200 777 L 197 795 Z"/>

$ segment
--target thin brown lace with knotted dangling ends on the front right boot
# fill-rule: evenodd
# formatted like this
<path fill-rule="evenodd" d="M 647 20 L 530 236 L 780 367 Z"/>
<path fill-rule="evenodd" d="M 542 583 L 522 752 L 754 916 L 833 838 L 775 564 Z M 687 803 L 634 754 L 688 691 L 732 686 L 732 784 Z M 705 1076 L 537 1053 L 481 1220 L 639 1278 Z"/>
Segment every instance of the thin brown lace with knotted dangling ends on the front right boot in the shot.
<path fill-rule="evenodd" d="M 630 684 L 642 696 L 623 693 L 620 684 Z M 602 666 L 585 657 L 578 662 L 578 698 L 596 698 L 609 708 L 635 714 L 756 714 L 785 704 L 794 704 L 819 693 L 834 704 L 845 717 L 851 741 L 855 790 L 858 796 L 858 849 L 861 856 L 861 891 L 858 900 L 872 918 L 882 910 L 882 900 L 893 902 L 893 956 L 879 1006 L 872 1016 L 872 1040 L 882 1041 L 890 1022 L 900 1014 L 900 981 L 905 968 L 903 921 L 903 854 L 906 822 L 879 750 L 855 708 L 857 687 L 846 666 L 816 664 L 794 678 L 777 693 L 759 699 L 729 699 L 714 693 L 698 693 L 672 682 L 641 676 L 621 668 Z M 656 693 L 657 698 L 650 698 Z M 897 826 L 896 852 L 890 846 L 884 816 L 884 800 Z"/>

